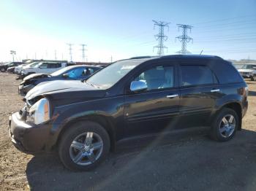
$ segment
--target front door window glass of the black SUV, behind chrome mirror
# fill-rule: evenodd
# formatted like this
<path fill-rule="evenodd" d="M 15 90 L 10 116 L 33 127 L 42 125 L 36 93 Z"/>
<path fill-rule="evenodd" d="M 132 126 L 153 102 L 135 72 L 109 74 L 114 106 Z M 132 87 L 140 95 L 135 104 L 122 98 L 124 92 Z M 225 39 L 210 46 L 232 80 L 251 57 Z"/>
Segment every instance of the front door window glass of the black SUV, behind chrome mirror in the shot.
<path fill-rule="evenodd" d="M 148 90 L 157 90 L 173 87 L 173 66 L 155 66 L 154 68 L 143 71 L 135 81 L 146 82 Z"/>

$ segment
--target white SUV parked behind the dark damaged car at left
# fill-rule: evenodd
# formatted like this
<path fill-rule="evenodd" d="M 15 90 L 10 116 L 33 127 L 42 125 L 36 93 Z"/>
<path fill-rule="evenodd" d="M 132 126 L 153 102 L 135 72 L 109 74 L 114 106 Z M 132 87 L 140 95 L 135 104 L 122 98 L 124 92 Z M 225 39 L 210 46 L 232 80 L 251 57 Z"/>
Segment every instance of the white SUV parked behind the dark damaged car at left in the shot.
<path fill-rule="evenodd" d="M 54 71 L 58 71 L 67 66 L 67 63 L 59 63 L 59 62 L 39 62 L 33 66 L 25 66 L 21 71 L 22 76 L 27 76 L 29 74 L 51 74 Z"/>

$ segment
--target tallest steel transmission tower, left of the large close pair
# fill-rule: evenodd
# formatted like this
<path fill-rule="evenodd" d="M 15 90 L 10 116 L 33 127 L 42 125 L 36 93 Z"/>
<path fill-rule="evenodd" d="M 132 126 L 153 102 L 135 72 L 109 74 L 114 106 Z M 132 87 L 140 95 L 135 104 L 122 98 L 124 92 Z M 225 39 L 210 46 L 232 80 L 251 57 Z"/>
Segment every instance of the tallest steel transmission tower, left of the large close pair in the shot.
<path fill-rule="evenodd" d="M 154 48 L 157 48 L 157 54 L 158 55 L 164 55 L 165 53 L 165 48 L 167 49 L 167 47 L 165 47 L 164 42 L 167 41 L 167 36 L 165 35 L 165 27 L 168 28 L 169 30 L 169 24 L 170 23 L 165 23 L 162 21 L 157 21 L 157 20 L 153 20 L 154 22 L 154 28 L 155 26 L 159 27 L 159 33 L 155 35 L 156 40 L 158 41 L 158 45 L 154 46 Z M 153 49 L 154 52 L 154 49 Z"/>

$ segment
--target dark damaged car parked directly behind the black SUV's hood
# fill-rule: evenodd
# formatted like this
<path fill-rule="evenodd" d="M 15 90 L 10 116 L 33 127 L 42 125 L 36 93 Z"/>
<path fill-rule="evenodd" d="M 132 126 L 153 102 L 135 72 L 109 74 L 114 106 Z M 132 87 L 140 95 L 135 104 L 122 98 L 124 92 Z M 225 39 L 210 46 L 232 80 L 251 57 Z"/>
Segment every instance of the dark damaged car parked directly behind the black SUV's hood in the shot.
<path fill-rule="evenodd" d="M 99 66 L 75 65 L 67 66 L 63 69 L 53 72 L 52 74 L 30 74 L 25 77 L 19 85 L 20 95 L 26 95 L 33 87 L 42 82 L 53 80 L 78 80 L 87 79 L 94 72 L 102 69 Z"/>

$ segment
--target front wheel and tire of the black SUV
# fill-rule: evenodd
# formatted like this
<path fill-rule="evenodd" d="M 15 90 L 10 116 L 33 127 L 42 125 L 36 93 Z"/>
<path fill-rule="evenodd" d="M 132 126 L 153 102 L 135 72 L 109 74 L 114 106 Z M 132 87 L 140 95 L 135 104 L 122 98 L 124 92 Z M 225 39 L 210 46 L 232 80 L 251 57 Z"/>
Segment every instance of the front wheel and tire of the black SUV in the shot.
<path fill-rule="evenodd" d="M 110 138 L 97 122 L 77 122 L 64 133 L 59 144 L 61 162 L 73 171 L 89 171 L 108 154 Z"/>

